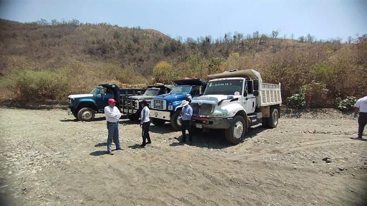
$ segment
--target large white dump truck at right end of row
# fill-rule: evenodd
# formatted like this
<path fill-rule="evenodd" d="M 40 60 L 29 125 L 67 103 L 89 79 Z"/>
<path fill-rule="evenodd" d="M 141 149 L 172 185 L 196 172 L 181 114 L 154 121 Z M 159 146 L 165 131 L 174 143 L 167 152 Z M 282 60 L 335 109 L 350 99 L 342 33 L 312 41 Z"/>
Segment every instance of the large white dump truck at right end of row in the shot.
<path fill-rule="evenodd" d="M 248 128 L 275 128 L 282 105 L 281 84 L 263 83 L 253 69 L 208 75 L 203 95 L 194 97 L 192 123 L 196 131 L 224 129 L 228 142 L 240 143 Z"/>

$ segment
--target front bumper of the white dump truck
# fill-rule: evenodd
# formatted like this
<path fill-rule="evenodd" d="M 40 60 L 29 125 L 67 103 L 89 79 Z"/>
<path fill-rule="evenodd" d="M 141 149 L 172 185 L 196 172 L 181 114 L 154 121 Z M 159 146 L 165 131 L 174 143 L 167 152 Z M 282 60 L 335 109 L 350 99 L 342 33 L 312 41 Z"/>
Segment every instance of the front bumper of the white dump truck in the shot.
<path fill-rule="evenodd" d="M 196 128 L 203 129 L 228 129 L 233 121 L 233 118 L 200 118 L 192 117 L 193 125 Z"/>

